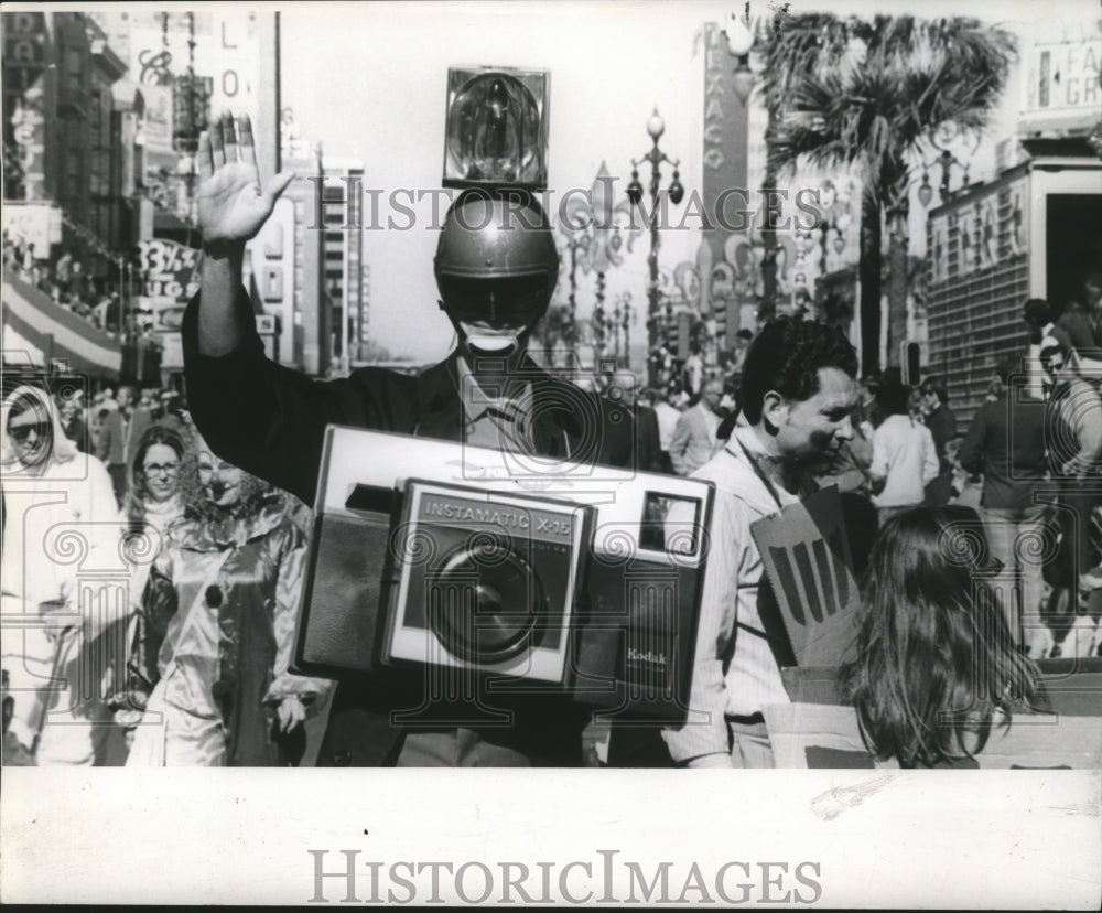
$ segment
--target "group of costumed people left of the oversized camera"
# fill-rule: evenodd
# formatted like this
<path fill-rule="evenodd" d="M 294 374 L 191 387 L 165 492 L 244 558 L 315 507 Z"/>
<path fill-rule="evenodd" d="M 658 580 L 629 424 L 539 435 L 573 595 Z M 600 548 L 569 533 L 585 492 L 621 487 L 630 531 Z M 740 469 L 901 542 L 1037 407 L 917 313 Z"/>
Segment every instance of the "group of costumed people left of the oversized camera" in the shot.
<path fill-rule="evenodd" d="M 296 764 L 329 688 L 288 670 L 310 512 L 215 456 L 174 389 L 50 387 L 2 406 L 4 613 L 32 622 L 4 630 L 4 763 Z"/>

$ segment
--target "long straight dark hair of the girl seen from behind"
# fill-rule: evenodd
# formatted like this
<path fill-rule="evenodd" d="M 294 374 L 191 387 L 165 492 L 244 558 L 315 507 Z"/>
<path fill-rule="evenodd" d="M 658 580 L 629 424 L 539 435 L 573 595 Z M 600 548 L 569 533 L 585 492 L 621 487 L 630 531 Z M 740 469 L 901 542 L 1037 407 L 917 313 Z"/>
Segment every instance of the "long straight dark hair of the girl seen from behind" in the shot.
<path fill-rule="evenodd" d="M 1008 727 L 1012 707 L 1041 706 L 1036 667 L 975 579 L 982 536 L 974 511 L 919 507 L 889 519 L 873 547 L 857 658 L 839 676 L 877 758 L 951 764 Z"/>

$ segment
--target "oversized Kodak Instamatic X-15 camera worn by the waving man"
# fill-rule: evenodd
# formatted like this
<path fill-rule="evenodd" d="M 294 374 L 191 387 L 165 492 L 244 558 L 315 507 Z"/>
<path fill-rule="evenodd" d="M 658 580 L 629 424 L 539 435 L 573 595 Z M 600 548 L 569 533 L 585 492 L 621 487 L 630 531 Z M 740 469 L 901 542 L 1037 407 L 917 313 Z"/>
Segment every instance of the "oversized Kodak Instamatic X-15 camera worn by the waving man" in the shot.
<path fill-rule="evenodd" d="M 457 667 L 682 721 L 712 484 L 554 470 L 329 427 L 295 668 Z"/>

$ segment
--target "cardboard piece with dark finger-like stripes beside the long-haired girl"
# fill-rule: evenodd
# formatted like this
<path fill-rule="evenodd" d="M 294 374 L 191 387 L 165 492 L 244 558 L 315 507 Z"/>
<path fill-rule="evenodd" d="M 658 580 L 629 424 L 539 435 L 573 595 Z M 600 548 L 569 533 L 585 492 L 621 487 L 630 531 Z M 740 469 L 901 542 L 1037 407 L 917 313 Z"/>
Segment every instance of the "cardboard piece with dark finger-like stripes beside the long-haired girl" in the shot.
<path fill-rule="evenodd" d="M 798 666 L 836 666 L 857 634 L 857 582 L 831 486 L 750 524 Z"/>

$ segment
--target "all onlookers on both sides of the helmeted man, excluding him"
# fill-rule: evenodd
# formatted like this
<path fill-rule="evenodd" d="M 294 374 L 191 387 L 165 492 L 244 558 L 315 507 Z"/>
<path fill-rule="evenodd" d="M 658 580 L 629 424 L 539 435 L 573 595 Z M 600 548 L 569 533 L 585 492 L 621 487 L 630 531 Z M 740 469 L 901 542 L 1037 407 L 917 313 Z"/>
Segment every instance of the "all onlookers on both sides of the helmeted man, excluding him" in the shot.
<path fill-rule="evenodd" d="M 674 386 L 666 396 L 645 391 L 640 399 L 637 415 L 650 411 L 655 420 L 640 420 L 637 429 L 640 434 L 650 429 L 660 454 L 646 468 L 714 481 L 716 524 L 724 531 L 713 546 L 701 619 L 703 643 L 720 648 L 715 656 L 698 656 L 693 685 L 694 706 L 710 708 L 722 726 L 711 732 L 666 731 L 663 756 L 670 763 L 771 763 L 760 708 L 782 700 L 784 687 L 760 614 L 758 591 L 767 589 L 760 565 L 753 580 L 743 567 L 754 548 L 747 527 L 815 486 L 836 485 L 861 498 L 880 528 L 872 554 L 856 556 L 867 565 L 867 614 L 857 658 L 841 672 L 875 748 L 905 764 L 950 763 L 962 751 L 982 749 L 1009 711 L 992 699 L 981 708 L 979 726 L 972 720 L 916 728 L 898 698 L 905 686 L 914 687 L 918 667 L 927 672 L 925 681 L 943 657 L 931 631 L 949 632 L 962 655 L 980 643 L 969 643 L 973 629 L 995 632 L 982 638 L 990 653 L 984 668 L 1002 676 L 998 694 L 1005 690 L 1019 708 L 1041 701 L 1028 659 L 1059 655 L 1050 622 L 1041 617 L 1044 568 L 1036 549 L 1023 543 L 1040 536 L 1051 519 L 1052 505 L 1037 503 L 1036 491 L 1102 465 L 1102 399 L 1067 368 L 1073 351 L 1042 348 L 1047 400 L 1030 399 L 1023 389 L 1030 379 L 1023 357 L 1001 363 L 992 396 L 963 439 L 937 377 L 915 390 L 890 377 L 866 377 L 844 394 L 834 390 L 834 400 L 828 396 L 831 384 L 821 378 L 809 400 L 828 397 L 810 410 L 824 416 L 818 443 L 830 431 L 830 447 L 821 449 L 807 416 L 786 438 L 784 429 L 793 428 L 792 412 L 802 404 L 797 399 L 793 410 L 771 389 L 786 384 L 810 389 L 807 378 L 769 372 L 776 375 L 778 348 L 803 345 L 810 351 L 800 370 L 814 366 L 818 356 L 824 364 L 814 369 L 827 378 L 855 376 L 852 347 L 842 337 L 827 346 L 824 332 L 822 324 L 781 319 L 764 327 L 738 375 L 704 378 L 695 396 Z M 26 385 L 3 402 L 6 492 L 12 501 L 58 485 L 68 492 L 64 506 L 37 515 L 41 528 L 6 524 L 6 602 L 20 602 L 24 612 L 30 603 L 44 617 L 56 613 L 57 619 L 53 626 L 28 627 L 13 652 L 7 649 L 12 637 L 6 638 L 6 680 L 10 695 L 18 695 L 15 701 L 9 698 L 6 763 L 32 755 L 42 764 L 105 763 L 112 732 L 125 744 L 114 763 L 298 763 L 302 723 L 329 687 L 289 672 L 309 508 L 215 455 L 174 388 L 102 386 L 84 399 L 79 393 L 57 399 Z M 773 440 L 776 452 L 763 440 Z M 962 501 L 969 476 L 982 477 L 982 495 L 972 507 L 979 507 L 992 559 L 1004 568 L 994 579 L 997 600 L 981 600 L 970 609 L 971 620 L 953 614 L 954 606 L 975 602 L 968 571 L 938 551 L 947 526 L 975 517 Z M 1065 504 L 1079 504 L 1069 492 Z M 1084 563 L 1096 563 L 1098 545 L 1089 525 L 1078 520 L 1094 505 L 1078 496 L 1084 506 L 1080 513 L 1065 511 L 1070 524 L 1063 534 L 1082 570 L 1077 589 L 1090 591 L 1102 583 L 1099 569 Z M 88 541 L 94 554 L 118 550 L 119 540 L 134 537 L 150 544 L 137 549 L 143 559 L 130 568 L 129 612 L 109 622 L 101 613 L 80 615 L 80 617 L 73 617 L 77 581 L 40 545 L 48 525 L 93 518 L 82 528 L 96 530 Z M 731 616 L 725 606 L 735 606 L 737 637 L 732 627 L 710 627 L 716 617 Z M 947 621 L 931 621 L 931 611 Z M 899 665 L 895 651 L 885 652 L 884 632 L 908 629 L 923 646 Z M 93 648 L 105 643 L 125 649 L 112 655 Z M 99 688 L 89 696 L 76 683 L 87 680 L 82 664 L 94 657 L 106 659 L 96 660 L 93 678 Z M 705 672 L 713 665 L 714 672 Z M 58 677 L 67 679 L 67 690 L 40 687 Z M 964 687 L 964 673 L 944 673 L 941 680 L 948 690 L 912 696 L 927 715 L 959 698 L 951 687 Z M 614 748 L 611 756 L 617 764 L 639 763 L 630 748 Z"/>

